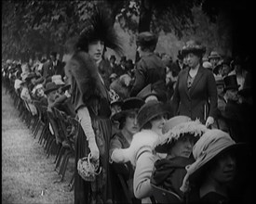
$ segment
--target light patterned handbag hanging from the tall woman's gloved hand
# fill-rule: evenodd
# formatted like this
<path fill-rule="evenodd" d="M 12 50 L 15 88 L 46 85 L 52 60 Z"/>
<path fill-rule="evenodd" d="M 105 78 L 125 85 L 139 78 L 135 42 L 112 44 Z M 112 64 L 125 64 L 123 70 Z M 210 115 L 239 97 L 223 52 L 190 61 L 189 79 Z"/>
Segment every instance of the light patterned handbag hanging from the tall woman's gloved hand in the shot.
<path fill-rule="evenodd" d="M 78 159 L 77 161 L 78 174 L 87 182 L 94 182 L 96 176 L 101 173 L 101 166 L 99 159 L 91 159 L 89 153 L 87 157 Z"/>

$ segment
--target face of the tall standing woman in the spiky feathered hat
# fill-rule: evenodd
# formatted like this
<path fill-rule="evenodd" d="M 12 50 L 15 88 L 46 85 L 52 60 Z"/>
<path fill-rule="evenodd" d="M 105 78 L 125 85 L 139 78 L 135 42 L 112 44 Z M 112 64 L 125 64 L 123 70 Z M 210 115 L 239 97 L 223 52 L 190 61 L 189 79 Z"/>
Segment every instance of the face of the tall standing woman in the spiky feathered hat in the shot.
<path fill-rule="evenodd" d="M 88 54 L 95 61 L 99 61 L 102 58 L 104 50 L 104 43 L 101 40 L 93 41 L 88 44 Z"/>

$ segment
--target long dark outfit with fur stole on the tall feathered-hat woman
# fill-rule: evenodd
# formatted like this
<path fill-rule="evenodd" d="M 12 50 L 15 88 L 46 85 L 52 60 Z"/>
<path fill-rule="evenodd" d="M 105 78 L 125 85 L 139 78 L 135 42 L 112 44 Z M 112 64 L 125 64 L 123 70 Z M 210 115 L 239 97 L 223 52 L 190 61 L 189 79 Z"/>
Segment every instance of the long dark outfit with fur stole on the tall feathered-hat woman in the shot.
<path fill-rule="evenodd" d="M 112 186 L 109 171 L 109 142 L 111 138 L 110 98 L 101 82 L 96 64 L 88 53 L 78 52 L 67 62 L 65 72 L 71 77 L 71 101 L 75 111 L 87 107 L 94 130 L 97 146 L 100 150 L 101 174 L 94 182 L 86 182 L 77 172 L 78 159 L 88 156 L 87 136 L 79 131 L 75 139 L 74 155 L 74 204 L 106 203 L 112 198 Z"/>

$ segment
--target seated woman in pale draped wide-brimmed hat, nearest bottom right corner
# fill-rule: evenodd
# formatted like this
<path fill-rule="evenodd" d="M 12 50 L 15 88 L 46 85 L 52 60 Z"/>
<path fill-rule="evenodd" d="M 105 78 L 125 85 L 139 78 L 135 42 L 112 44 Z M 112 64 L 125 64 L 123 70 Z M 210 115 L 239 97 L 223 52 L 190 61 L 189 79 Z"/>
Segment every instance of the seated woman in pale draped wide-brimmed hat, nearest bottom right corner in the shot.
<path fill-rule="evenodd" d="M 242 166 L 236 166 L 236 161 L 239 161 L 236 159 L 243 159 L 243 165 L 248 164 L 245 163 L 246 155 L 242 154 L 248 152 L 245 147 L 221 130 L 209 130 L 203 134 L 195 144 L 195 162 L 187 166 L 181 187 L 188 193 L 188 203 L 249 203 L 249 200 L 244 200 L 249 179 L 236 177 L 249 174 L 248 166 L 242 169 Z M 240 172 L 243 170 L 247 172 Z"/>

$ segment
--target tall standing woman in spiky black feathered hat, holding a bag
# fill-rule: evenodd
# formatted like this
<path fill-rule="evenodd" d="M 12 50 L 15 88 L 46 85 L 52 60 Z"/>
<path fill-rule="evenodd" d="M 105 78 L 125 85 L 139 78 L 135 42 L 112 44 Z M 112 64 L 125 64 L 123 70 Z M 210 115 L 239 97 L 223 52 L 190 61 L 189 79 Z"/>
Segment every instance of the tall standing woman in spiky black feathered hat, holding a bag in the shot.
<path fill-rule="evenodd" d="M 96 8 L 80 36 L 67 44 L 70 55 L 65 56 L 72 103 L 82 127 L 75 141 L 75 204 L 107 203 L 112 198 L 108 164 L 110 97 L 99 71 L 106 47 L 121 51 L 113 24 Z M 88 170 L 91 165 L 94 168 Z"/>

